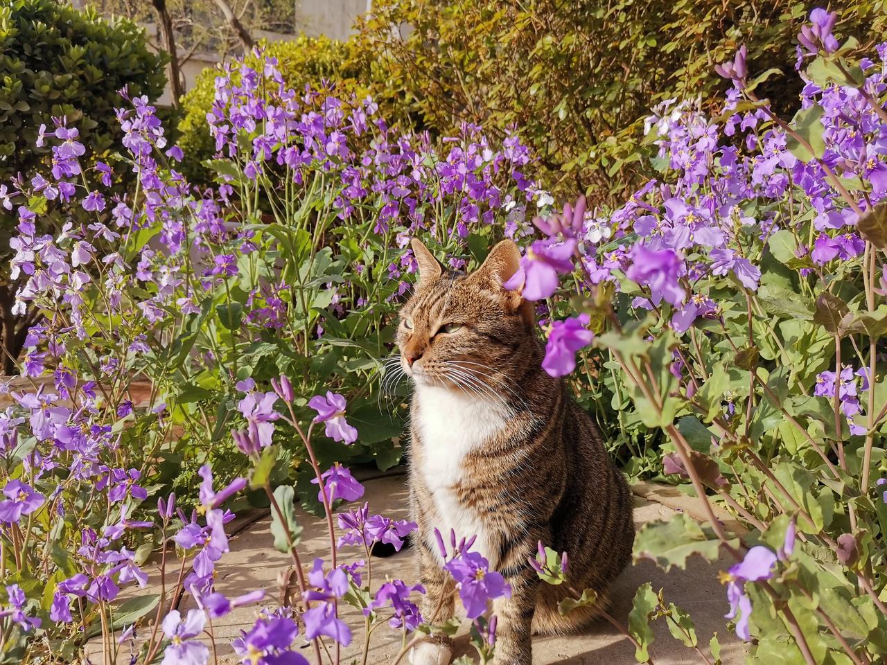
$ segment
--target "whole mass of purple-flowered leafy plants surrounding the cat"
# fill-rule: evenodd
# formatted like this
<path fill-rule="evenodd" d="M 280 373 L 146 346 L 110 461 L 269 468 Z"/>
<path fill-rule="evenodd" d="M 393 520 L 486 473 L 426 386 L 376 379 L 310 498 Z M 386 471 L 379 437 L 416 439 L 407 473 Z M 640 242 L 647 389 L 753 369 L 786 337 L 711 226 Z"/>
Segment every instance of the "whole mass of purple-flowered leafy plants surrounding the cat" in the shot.
<path fill-rule="evenodd" d="M 579 200 L 553 215 L 516 135 L 404 133 L 371 97 L 290 87 L 268 54 L 216 76 L 212 186 L 179 173 L 184 153 L 145 97 L 116 112 L 125 152 L 113 160 L 84 159 L 64 116 L 41 129 L 50 160 L 0 185 L 16 219 L 16 311 L 43 314 L 24 343 L 35 386 L 0 413 L 0 658 L 72 661 L 101 636 L 108 659 L 205 665 L 212 621 L 263 601 L 216 589 L 225 525 L 245 505 L 270 506 L 296 579 L 281 575 L 291 601 L 233 641 L 244 662 L 303 663 L 297 622 L 318 665 L 340 662 L 361 630 L 344 604 L 367 640 L 381 622 L 403 633 L 398 660 L 458 628 L 420 616 L 419 585 L 373 583 L 369 548 L 400 547 L 415 525 L 339 509 L 363 496 L 341 461 L 386 468 L 400 455 L 403 387 L 384 378 L 418 235 L 454 268 L 502 236 L 526 245 L 504 287 L 538 302 L 546 371 L 592 379 L 581 399 L 617 424 L 635 472 L 689 479 L 709 523 L 650 524 L 636 558 L 733 557 L 725 609 L 750 662 L 882 661 L 887 44 L 857 59 L 836 18 L 816 10 L 797 35 L 791 121 L 762 97 L 779 73 L 750 74 L 742 47 L 715 67 L 732 82 L 722 107 L 672 100 L 648 118 L 660 174 L 607 212 Z M 112 193 L 117 169 L 136 176 L 130 191 Z M 331 560 L 303 567 L 297 501 L 326 518 Z M 750 529 L 742 540 L 713 502 Z M 488 662 L 489 601 L 508 590 L 470 534 L 439 536 Z M 349 547 L 363 562 L 340 561 Z M 596 601 L 569 586 L 568 556 L 545 544 L 530 556 L 561 585 L 562 612 Z M 161 593 L 121 602 L 145 587 L 151 557 Z M 654 619 L 719 661 L 717 639 L 700 645 L 692 617 L 650 584 L 624 627 L 639 661 L 653 662 Z"/>

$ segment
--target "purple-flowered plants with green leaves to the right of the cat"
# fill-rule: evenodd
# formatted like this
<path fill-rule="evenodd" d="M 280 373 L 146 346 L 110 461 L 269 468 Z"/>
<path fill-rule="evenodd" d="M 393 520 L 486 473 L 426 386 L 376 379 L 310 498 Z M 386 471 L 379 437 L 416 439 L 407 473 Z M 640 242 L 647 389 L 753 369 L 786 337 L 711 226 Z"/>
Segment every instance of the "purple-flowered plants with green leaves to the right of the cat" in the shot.
<path fill-rule="evenodd" d="M 663 472 L 703 498 L 704 529 L 682 514 L 647 525 L 635 556 L 668 568 L 729 552 L 727 618 L 750 662 L 880 662 L 887 44 L 857 61 L 835 14 L 811 19 L 792 121 L 759 98 L 771 73 L 740 49 L 716 67 L 733 82 L 716 118 L 670 102 L 648 120 L 662 176 L 611 213 L 580 202 L 539 220 L 545 239 L 506 286 L 555 297 L 558 317 L 580 310 L 553 324 L 544 366 L 568 374 L 593 347 L 584 364 L 616 417 L 666 434 Z M 557 298 L 559 272 L 572 298 Z M 744 543 L 711 501 L 748 525 Z M 655 615 L 650 598 L 642 587 L 635 611 Z"/>

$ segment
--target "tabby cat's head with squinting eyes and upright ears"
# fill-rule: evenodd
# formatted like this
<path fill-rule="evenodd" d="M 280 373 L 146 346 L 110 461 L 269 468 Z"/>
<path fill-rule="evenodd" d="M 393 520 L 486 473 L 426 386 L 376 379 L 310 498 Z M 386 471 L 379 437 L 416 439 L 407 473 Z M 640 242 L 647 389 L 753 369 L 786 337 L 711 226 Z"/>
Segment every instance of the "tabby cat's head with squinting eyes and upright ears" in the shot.
<path fill-rule="evenodd" d="M 536 339 L 531 303 L 502 286 L 518 269 L 517 246 L 503 240 L 467 275 L 446 270 L 417 239 L 412 250 L 420 277 L 397 327 L 404 372 L 420 386 L 503 387 L 518 349 Z"/>

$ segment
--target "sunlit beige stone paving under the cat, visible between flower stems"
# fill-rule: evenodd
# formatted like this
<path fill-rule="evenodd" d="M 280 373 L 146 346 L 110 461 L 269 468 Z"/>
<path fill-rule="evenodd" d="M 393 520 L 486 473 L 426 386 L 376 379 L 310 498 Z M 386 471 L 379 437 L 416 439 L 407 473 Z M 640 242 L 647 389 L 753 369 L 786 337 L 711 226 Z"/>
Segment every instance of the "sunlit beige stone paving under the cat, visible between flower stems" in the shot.
<path fill-rule="evenodd" d="M 371 512 L 381 513 L 395 519 L 408 517 L 407 489 L 405 477 L 401 474 L 385 475 L 382 477 L 370 477 L 364 479 L 366 488 L 365 500 L 370 503 Z M 671 497 L 671 491 L 663 489 L 666 497 Z M 638 496 L 643 494 L 644 496 Z M 642 488 L 634 497 L 634 520 L 640 526 L 649 521 L 668 519 L 676 511 L 674 507 L 664 505 L 655 500 L 655 490 L 651 487 Z M 652 499 L 652 500 L 651 500 Z M 687 503 L 683 498 L 678 510 L 685 510 L 691 515 L 692 500 Z M 326 520 L 318 520 L 308 513 L 297 511 L 299 523 L 304 528 L 300 555 L 303 567 L 310 567 L 311 561 L 321 557 L 329 561 L 329 544 L 326 537 Z M 279 598 L 278 577 L 280 571 L 284 571 L 292 564 L 292 560 L 285 554 L 274 549 L 271 536 L 271 520 L 266 515 L 252 521 L 246 520 L 243 530 L 232 537 L 230 541 L 231 552 L 220 561 L 219 575 L 216 579 L 216 590 L 228 597 L 239 596 L 263 589 L 267 594 L 269 605 L 277 604 Z M 339 552 L 340 562 L 352 562 L 356 559 L 364 559 L 364 553 L 357 548 L 343 548 Z M 736 640 L 726 630 L 726 622 L 723 615 L 728 609 L 724 587 L 718 583 L 718 571 L 731 565 L 731 559 L 724 556 L 716 564 L 709 564 L 704 559 L 693 557 L 687 561 L 687 570 L 672 569 L 664 573 L 651 561 L 640 561 L 638 564 L 628 567 L 624 574 L 616 582 L 613 593 L 613 606 L 611 614 L 619 622 L 627 624 L 627 616 L 632 608 L 632 599 L 638 586 L 650 582 L 654 590 L 662 588 L 667 602 L 687 610 L 696 625 L 696 633 L 699 644 L 708 653 L 707 645 L 714 631 L 718 631 L 721 641 L 721 659 L 725 665 L 738 665 L 742 662 L 742 643 Z M 177 562 L 173 562 L 169 568 L 177 571 Z M 381 580 L 403 579 L 407 583 L 416 581 L 416 567 L 413 562 L 412 550 L 404 550 L 388 558 L 373 557 L 372 560 L 373 589 L 378 588 Z M 152 575 L 156 580 L 158 575 Z M 149 586 L 143 592 L 158 592 L 158 586 Z M 457 603 L 458 605 L 458 603 Z M 180 610 L 186 610 L 192 606 L 192 599 L 186 597 Z M 213 630 L 216 635 L 216 649 L 218 661 L 222 665 L 238 662 L 232 651 L 231 641 L 240 635 L 241 630 L 248 630 L 255 621 L 257 606 L 239 607 L 231 614 L 217 619 Z M 346 606 L 341 612 L 342 618 L 349 622 L 356 630 L 356 638 L 352 645 L 343 648 L 341 662 L 350 663 L 361 653 L 363 637 L 363 617 L 356 609 Z M 657 665 L 679 665 L 682 663 L 702 662 L 694 650 L 688 649 L 674 638 L 671 638 L 668 627 L 663 620 L 653 623 L 655 643 L 650 648 L 650 655 Z M 145 635 L 148 630 L 141 631 Z M 400 651 L 402 636 L 388 626 L 382 625 L 373 631 L 367 663 L 390 663 L 396 653 Z M 100 649 L 99 645 L 96 645 Z M 91 660 L 101 662 L 100 650 L 90 648 Z M 313 660 L 312 651 L 308 645 L 304 646 L 305 656 Z M 472 653 L 467 642 L 467 626 L 456 637 L 454 654 Z M 120 660 L 122 662 L 122 659 Z M 401 661 L 405 663 L 406 660 Z M 635 663 L 634 649 L 624 636 L 613 628 L 608 622 L 600 621 L 593 624 L 581 634 L 562 637 L 547 637 L 533 639 L 533 663 L 534 665 L 548 665 L 549 663 L 569 663 L 570 665 L 592 665 L 593 663 L 606 663 L 607 665 L 632 665 Z"/>

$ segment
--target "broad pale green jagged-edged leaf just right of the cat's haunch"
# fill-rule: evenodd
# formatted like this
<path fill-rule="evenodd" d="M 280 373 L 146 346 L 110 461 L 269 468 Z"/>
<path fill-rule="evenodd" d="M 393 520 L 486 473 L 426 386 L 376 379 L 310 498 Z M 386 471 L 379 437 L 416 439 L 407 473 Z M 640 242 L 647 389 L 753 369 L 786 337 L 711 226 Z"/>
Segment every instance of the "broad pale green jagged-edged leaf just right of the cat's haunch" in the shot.
<path fill-rule="evenodd" d="M 729 541 L 739 546 L 739 539 Z M 720 541 L 711 528 L 703 527 L 687 513 L 679 512 L 667 521 L 645 524 L 634 539 L 634 560 L 651 559 L 666 572 L 672 566 L 687 568 L 687 558 L 698 554 L 708 561 L 717 561 Z"/>

